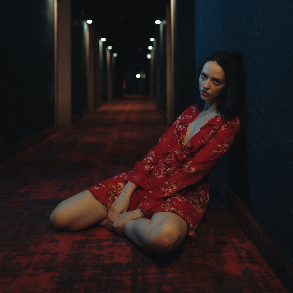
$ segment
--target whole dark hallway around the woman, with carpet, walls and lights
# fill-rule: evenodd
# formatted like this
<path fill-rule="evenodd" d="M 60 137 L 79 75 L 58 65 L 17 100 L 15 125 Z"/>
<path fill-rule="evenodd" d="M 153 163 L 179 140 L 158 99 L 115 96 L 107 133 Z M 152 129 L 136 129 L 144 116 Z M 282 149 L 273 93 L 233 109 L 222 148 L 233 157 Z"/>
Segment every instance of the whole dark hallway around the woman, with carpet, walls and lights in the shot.
<path fill-rule="evenodd" d="M 0 291 L 293 290 L 292 0 L 2 2 Z M 242 55 L 246 103 L 198 242 L 163 261 L 98 227 L 57 234 L 57 203 L 132 170 L 217 51 Z"/>

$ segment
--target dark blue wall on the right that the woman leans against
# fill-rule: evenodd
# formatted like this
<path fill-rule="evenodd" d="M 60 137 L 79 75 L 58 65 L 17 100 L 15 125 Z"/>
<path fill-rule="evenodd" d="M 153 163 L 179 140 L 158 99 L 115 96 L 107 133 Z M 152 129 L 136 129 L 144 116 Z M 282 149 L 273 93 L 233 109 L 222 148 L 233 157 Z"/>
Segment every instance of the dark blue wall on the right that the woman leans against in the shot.
<path fill-rule="evenodd" d="M 291 260 L 292 27 L 291 0 L 195 1 L 197 69 L 217 50 L 241 52 L 246 65 L 247 122 L 217 175 Z"/>

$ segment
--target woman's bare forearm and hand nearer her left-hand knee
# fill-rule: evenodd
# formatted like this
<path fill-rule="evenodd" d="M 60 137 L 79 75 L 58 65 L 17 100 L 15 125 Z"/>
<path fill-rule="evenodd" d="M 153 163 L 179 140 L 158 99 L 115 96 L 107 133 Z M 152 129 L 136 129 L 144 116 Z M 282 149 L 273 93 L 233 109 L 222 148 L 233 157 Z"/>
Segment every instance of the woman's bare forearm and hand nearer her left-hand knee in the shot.
<path fill-rule="evenodd" d="M 127 212 L 129 207 L 130 199 L 137 185 L 128 182 L 122 189 L 120 195 L 112 203 L 108 215 L 107 215 L 107 228 L 108 230 L 113 230 L 113 223 L 115 222 L 118 215 Z"/>

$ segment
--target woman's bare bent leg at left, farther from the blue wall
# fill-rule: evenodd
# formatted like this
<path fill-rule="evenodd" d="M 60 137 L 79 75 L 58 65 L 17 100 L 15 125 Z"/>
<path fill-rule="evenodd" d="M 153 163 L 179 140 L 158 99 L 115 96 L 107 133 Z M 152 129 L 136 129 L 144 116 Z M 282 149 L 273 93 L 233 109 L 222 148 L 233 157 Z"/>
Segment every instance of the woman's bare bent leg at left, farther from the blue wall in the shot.
<path fill-rule="evenodd" d="M 51 222 L 57 229 L 72 232 L 84 230 L 106 218 L 106 207 L 89 190 L 60 202 L 51 214 Z"/>

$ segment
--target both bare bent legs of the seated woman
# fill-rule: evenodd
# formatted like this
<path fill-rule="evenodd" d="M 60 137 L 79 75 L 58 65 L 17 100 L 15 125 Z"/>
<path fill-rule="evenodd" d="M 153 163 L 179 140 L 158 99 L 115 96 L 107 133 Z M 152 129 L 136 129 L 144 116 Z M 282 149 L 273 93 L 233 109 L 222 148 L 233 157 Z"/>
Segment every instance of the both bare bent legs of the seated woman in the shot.
<path fill-rule="evenodd" d="M 81 231 L 93 224 L 107 228 L 107 209 L 89 190 L 84 190 L 57 205 L 51 214 L 57 229 Z M 178 248 L 188 234 L 183 218 L 171 212 L 154 214 L 126 223 L 124 234 L 144 250 L 166 253 Z"/>

